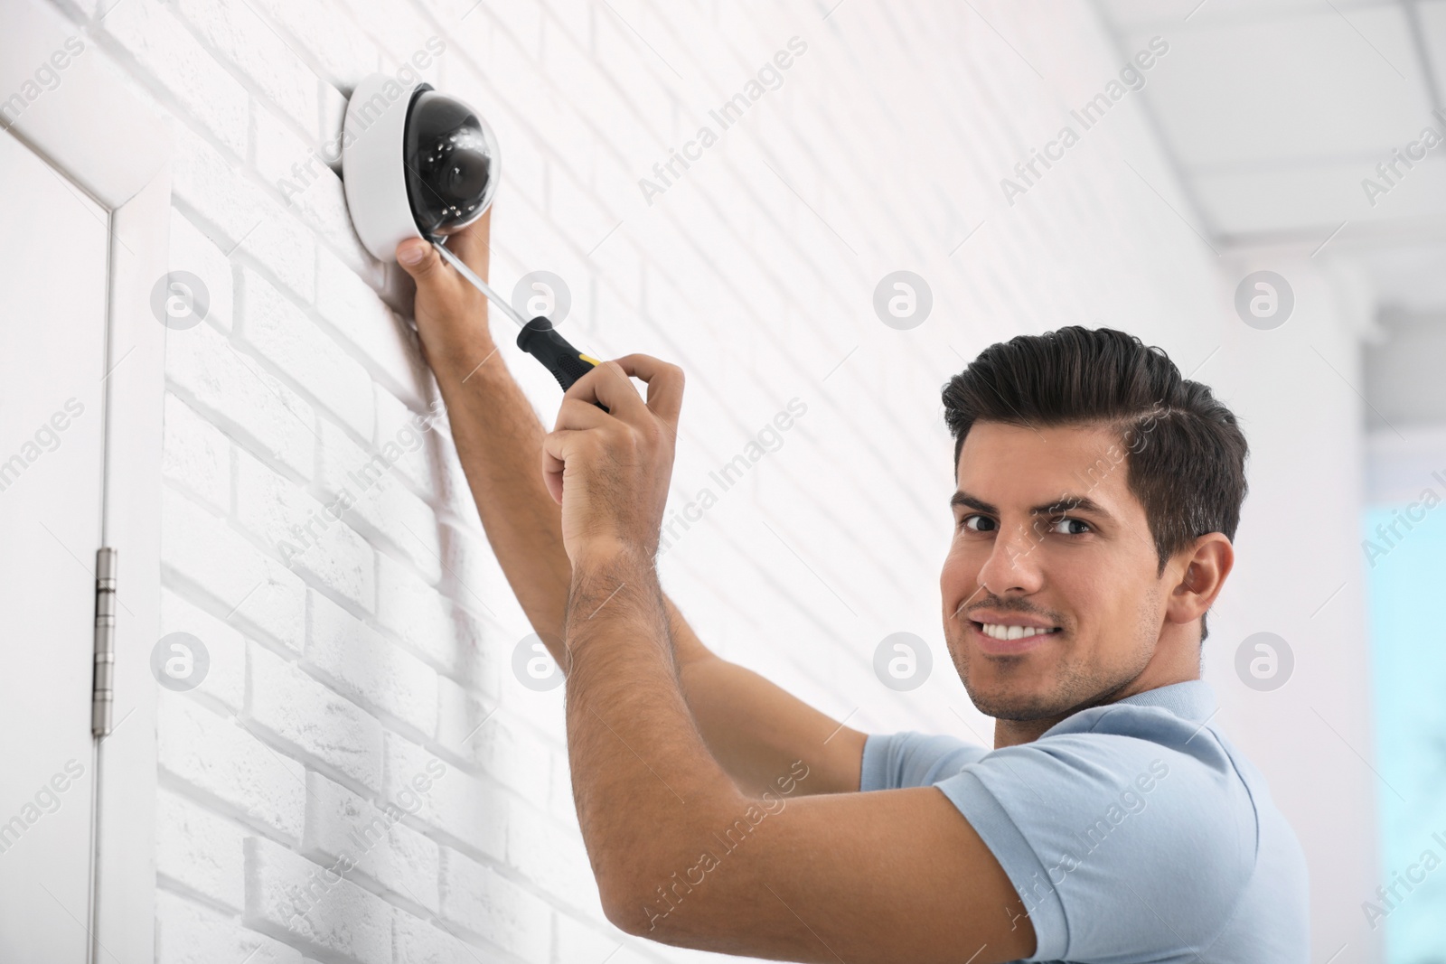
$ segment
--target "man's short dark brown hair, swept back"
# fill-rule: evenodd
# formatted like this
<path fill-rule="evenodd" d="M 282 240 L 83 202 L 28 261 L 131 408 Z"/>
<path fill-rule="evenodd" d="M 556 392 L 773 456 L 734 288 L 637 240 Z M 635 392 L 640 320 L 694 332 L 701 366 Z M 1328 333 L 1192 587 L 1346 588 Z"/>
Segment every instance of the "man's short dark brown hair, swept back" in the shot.
<path fill-rule="evenodd" d="M 1135 335 L 1069 325 L 989 345 L 944 386 L 956 471 L 975 422 L 1113 429 L 1155 541 L 1157 577 L 1197 536 L 1235 539 L 1248 491 L 1245 435 L 1209 386 L 1181 377 Z M 1206 634 L 1202 614 L 1202 643 Z"/>

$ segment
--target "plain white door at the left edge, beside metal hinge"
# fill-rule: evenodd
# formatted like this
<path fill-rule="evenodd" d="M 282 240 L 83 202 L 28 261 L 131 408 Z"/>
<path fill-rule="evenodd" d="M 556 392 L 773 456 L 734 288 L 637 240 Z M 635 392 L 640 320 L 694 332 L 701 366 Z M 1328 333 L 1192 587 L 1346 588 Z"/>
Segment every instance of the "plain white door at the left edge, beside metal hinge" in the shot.
<path fill-rule="evenodd" d="M 87 961 L 108 214 L 0 133 L 0 961 Z M 121 561 L 121 565 L 124 561 Z"/>

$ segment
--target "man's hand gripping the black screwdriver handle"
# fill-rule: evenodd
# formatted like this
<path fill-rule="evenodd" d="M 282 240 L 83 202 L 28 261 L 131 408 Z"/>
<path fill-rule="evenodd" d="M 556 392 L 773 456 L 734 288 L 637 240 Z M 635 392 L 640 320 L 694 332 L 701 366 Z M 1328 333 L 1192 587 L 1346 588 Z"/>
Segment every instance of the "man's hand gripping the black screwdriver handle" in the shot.
<path fill-rule="evenodd" d="M 648 383 L 646 403 L 629 376 Z M 681 408 L 683 369 L 645 354 L 604 361 L 562 396 L 542 439 L 542 473 L 562 506 L 562 546 L 574 568 L 617 552 L 651 567 Z"/>

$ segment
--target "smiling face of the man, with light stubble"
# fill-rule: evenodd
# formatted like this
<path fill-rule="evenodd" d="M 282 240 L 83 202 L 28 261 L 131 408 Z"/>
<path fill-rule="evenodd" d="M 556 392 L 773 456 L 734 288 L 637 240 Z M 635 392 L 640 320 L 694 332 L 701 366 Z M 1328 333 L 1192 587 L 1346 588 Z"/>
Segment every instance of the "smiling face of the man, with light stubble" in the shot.
<path fill-rule="evenodd" d="M 977 422 L 964 438 L 940 588 L 949 652 L 980 713 L 1066 715 L 1131 682 L 1154 655 L 1164 578 L 1126 486 L 1126 454 L 1093 426 Z M 1054 509 L 1032 512 L 1044 506 Z M 979 623 L 1058 629 L 993 639 Z"/>

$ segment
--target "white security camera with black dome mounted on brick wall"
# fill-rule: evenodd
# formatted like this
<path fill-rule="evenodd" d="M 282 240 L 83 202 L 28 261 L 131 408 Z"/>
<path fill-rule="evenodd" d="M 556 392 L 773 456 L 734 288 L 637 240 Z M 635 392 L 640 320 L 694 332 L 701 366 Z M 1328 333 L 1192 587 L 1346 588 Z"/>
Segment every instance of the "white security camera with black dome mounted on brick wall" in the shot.
<path fill-rule="evenodd" d="M 483 215 L 502 173 L 497 139 L 467 104 L 431 84 L 373 74 L 347 103 L 341 178 L 357 237 L 396 260 L 409 237 L 440 240 Z"/>

